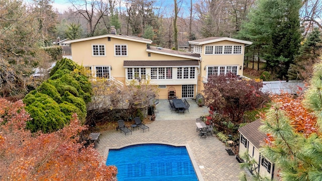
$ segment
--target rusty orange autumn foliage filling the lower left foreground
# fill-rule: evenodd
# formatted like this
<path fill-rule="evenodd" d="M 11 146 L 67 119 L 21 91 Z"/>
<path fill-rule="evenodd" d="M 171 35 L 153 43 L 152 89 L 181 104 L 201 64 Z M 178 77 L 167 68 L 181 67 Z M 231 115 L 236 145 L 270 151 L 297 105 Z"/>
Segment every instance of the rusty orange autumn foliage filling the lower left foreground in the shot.
<path fill-rule="evenodd" d="M 116 180 L 93 146 L 79 143 L 85 130 L 76 115 L 69 126 L 53 133 L 31 133 L 22 101 L 0 99 L 0 180 Z"/>

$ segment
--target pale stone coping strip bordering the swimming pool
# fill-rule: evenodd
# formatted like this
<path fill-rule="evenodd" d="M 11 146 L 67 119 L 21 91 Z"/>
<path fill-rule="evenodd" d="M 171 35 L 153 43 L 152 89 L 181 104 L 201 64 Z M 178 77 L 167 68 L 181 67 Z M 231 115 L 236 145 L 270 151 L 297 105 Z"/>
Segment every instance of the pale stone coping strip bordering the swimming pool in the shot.
<path fill-rule="evenodd" d="M 202 177 L 202 174 L 201 174 L 201 171 L 199 169 L 198 163 L 195 160 L 195 157 L 193 156 L 193 153 L 192 153 L 192 150 L 190 149 L 189 144 L 174 144 L 174 143 L 168 143 L 168 142 L 155 142 L 154 141 L 154 142 L 129 143 L 129 144 L 125 144 L 125 145 L 117 146 L 117 147 L 107 147 L 107 148 L 105 148 L 104 153 L 103 153 L 104 154 L 104 159 L 102 160 L 102 163 L 106 165 L 106 161 L 107 161 L 107 157 L 108 157 L 110 149 L 120 149 L 120 148 L 124 148 L 124 147 L 127 147 L 127 146 L 132 146 L 132 145 L 137 145 L 137 144 L 165 144 L 165 145 L 171 145 L 171 146 L 185 146 L 186 149 L 187 149 L 187 152 L 189 154 L 189 157 L 190 157 L 191 163 L 193 165 L 193 168 L 195 170 L 195 173 L 197 175 L 198 181 L 204 181 L 204 179 Z"/>

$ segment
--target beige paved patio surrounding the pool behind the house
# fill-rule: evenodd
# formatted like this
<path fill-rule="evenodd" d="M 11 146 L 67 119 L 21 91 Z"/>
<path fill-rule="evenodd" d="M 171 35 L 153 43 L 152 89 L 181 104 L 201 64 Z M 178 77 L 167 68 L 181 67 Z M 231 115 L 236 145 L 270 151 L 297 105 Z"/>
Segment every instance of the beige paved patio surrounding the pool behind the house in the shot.
<path fill-rule="evenodd" d="M 200 138 L 196 132 L 196 118 L 207 115 L 207 107 L 198 107 L 193 100 L 190 104 L 190 113 L 184 115 L 171 113 L 168 100 L 160 100 L 155 109 L 155 121 L 146 124 L 146 129 L 132 131 L 132 135 L 112 130 L 101 132 L 100 143 L 97 149 L 106 161 L 108 148 L 123 147 L 142 143 L 169 143 L 172 145 L 189 145 L 194 160 L 199 166 L 202 179 L 213 180 L 239 180 L 239 175 L 245 172 L 239 167 L 235 156 L 229 156 L 225 145 L 215 136 Z"/>

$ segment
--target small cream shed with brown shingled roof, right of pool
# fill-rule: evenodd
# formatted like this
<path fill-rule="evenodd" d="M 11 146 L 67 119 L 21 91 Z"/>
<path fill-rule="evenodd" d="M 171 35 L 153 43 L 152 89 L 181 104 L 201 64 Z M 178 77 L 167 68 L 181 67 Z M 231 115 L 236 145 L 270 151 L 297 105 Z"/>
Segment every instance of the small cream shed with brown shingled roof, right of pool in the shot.
<path fill-rule="evenodd" d="M 253 170 L 257 169 L 261 176 L 277 180 L 278 171 L 275 164 L 265 158 L 259 150 L 261 143 L 267 137 L 266 134 L 258 131 L 258 128 L 261 125 L 263 125 L 263 123 L 258 119 L 238 129 L 240 133 L 239 155 L 248 151 L 250 157 L 254 158 L 258 163 Z"/>

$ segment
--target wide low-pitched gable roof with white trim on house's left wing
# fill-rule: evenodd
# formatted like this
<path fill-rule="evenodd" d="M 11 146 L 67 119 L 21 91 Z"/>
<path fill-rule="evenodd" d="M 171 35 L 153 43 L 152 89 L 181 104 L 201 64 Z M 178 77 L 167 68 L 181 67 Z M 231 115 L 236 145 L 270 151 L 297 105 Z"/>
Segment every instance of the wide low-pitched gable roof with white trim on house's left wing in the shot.
<path fill-rule="evenodd" d="M 88 40 L 95 40 L 95 39 L 107 38 L 107 37 L 117 38 L 117 39 L 122 39 L 122 40 L 135 41 L 135 42 L 141 42 L 141 43 L 147 43 L 147 44 L 152 43 L 151 40 L 141 38 L 141 37 L 128 36 L 128 35 L 113 35 L 113 34 L 101 35 L 101 36 L 95 36 L 95 37 L 89 37 L 89 38 L 82 38 L 82 39 L 77 39 L 77 40 L 69 40 L 69 41 L 66 41 L 65 43 L 69 44 L 69 43 L 82 42 L 82 41 L 88 41 Z"/>

